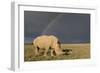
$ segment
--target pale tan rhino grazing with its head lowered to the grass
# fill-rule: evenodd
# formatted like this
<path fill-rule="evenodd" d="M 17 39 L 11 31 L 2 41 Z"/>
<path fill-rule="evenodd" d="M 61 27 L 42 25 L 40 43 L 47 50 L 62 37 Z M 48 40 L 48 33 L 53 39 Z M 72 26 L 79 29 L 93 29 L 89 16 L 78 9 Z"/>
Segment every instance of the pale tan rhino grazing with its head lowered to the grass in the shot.
<path fill-rule="evenodd" d="M 54 56 L 54 53 L 56 55 L 62 55 L 65 52 L 61 49 L 61 44 L 58 40 L 58 38 L 54 35 L 41 35 L 36 37 L 33 40 L 33 45 L 35 49 L 35 55 L 39 55 L 39 49 L 44 49 L 44 56 L 47 56 L 47 52 L 51 48 L 51 56 Z"/>

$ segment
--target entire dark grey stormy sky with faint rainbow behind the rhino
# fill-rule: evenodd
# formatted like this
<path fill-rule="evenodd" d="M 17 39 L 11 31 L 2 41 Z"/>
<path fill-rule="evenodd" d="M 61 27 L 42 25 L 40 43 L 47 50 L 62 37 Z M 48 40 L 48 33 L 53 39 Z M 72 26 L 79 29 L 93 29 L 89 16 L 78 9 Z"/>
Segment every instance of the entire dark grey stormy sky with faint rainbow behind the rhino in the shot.
<path fill-rule="evenodd" d="M 24 11 L 24 41 L 52 34 L 62 43 L 90 42 L 90 14 Z"/>

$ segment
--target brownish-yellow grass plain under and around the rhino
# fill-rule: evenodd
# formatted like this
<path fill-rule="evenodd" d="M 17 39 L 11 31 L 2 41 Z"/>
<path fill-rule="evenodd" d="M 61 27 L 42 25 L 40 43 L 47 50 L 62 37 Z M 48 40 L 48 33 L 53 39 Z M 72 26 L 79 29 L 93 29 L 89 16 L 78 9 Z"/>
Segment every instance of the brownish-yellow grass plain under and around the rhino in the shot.
<path fill-rule="evenodd" d="M 43 60 L 69 60 L 69 59 L 88 59 L 90 58 L 90 44 L 79 43 L 79 44 L 62 44 L 63 50 L 71 49 L 72 53 L 69 55 L 61 56 L 35 56 L 34 48 L 31 44 L 24 45 L 24 60 L 25 61 L 43 61 Z"/>

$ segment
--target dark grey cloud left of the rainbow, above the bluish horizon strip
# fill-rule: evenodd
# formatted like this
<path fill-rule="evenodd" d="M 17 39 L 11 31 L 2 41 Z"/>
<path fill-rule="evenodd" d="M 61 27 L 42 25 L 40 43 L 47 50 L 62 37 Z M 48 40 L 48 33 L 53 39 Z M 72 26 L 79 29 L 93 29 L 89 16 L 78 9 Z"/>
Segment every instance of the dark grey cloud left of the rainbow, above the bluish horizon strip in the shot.
<path fill-rule="evenodd" d="M 34 36 L 34 34 L 40 34 L 46 25 L 56 17 L 57 14 L 53 13 L 40 13 L 25 11 L 24 23 L 25 23 L 25 36 Z"/>

